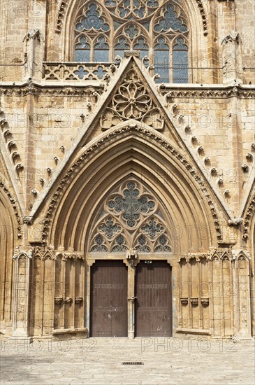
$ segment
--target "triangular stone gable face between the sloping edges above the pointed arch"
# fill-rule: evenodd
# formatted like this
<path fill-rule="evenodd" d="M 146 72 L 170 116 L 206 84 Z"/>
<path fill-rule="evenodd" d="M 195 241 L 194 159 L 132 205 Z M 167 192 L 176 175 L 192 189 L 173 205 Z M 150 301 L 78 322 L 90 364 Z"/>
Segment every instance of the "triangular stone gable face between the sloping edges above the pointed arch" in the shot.
<path fill-rule="evenodd" d="M 94 121 L 88 128 L 82 144 L 98 136 L 101 132 L 123 123 L 136 121 L 145 127 L 160 131 L 182 147 L 181 140 L 170 122 L 161 102 L 150 68 L 143 61 L 131 57 L 113 71 L 110 83 L 101 95 Z"/>

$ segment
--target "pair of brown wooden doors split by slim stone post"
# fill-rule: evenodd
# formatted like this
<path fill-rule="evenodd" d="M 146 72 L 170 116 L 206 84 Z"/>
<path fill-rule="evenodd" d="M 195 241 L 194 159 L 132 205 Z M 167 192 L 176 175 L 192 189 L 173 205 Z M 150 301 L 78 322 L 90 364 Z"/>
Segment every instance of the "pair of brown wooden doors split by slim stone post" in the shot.
<path fill-rule="evenodd" d="M 147 263 L 146 263 L 147 262 Z M 133 272 L 133 270 L 132 270 Z M 170 336 L 171 276 L 166 261 L 140 261 L 135 270 L 135 335 Z M 133 279 L 131 280 L 133 281 Z M 90 335 L 128 335 L 128 268 L 122 260 L 97 260 L 91 275 Z"/>

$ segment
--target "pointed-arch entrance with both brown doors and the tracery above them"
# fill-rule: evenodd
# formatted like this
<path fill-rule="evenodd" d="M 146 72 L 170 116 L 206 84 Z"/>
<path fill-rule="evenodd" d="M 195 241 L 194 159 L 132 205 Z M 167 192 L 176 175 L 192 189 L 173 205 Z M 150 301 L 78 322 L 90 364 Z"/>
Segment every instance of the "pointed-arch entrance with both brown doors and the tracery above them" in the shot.
<path fill-rule="evenodd" d="M 163 202 L 136 176 L 126 176 L 103 197 L 87 239 L 89 334 L 172 335 L 173 253 Z"/>

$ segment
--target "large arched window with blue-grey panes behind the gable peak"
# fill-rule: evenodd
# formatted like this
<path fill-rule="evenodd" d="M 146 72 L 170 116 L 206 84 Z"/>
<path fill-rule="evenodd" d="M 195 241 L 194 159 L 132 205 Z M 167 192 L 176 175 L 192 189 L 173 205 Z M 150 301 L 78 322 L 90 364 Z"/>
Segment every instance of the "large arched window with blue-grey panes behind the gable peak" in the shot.
<path fill-rule="evenodd" d="M 77 62 L 114 62 L 140 50 L 159 83 L 189 81 L 189 23 L 179 0 L 87 1 L 75 21 Z"/>

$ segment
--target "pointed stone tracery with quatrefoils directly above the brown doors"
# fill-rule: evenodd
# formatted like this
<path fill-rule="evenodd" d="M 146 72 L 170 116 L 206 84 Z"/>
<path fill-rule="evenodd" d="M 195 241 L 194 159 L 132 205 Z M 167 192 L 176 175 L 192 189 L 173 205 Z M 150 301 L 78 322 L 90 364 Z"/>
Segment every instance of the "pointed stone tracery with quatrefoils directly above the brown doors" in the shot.
<path fill-rule="evenodd" d="M 167 228 L 154 197 L 137 181 L 122 183 L 103 204 L 89 250 L 124 253 L 170 252 Z"/>

